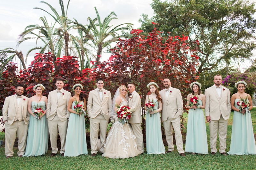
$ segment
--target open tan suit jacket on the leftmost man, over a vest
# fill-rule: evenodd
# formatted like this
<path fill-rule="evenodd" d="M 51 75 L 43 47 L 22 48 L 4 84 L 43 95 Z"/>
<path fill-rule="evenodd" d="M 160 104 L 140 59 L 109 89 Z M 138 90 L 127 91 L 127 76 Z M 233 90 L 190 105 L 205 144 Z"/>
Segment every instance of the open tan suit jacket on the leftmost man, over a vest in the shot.
<path fill-rule="evenodd" d="M 25 99 L 25 100 L 24 100 Z M 20 102 L 22 102 L 22 117 L 25 124 L 28 124 L 29 121 L 29 112 L 28 112 L 28 100 L 26 96 L 22 95 L 22 99 Z M 17 108 L 17 102 L 16 102 L 16 95 L 12 95 L 9 97 L 6 97 L 4 100 L 4 106 L 3 106 L 3 120 L 7 121 L 9 125 L 12 125 L 15 119 L 16 110 Z"/>

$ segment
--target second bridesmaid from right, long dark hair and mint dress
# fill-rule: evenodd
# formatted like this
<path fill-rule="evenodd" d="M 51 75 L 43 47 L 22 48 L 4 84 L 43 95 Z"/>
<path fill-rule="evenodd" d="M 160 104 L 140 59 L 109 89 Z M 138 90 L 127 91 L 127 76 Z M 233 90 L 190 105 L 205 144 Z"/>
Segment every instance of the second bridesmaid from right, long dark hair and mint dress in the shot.
<path fill-rule="evenodd" d="M 201 84 L 193 82 L 190 85 L 192 93 L 188 94 L 187 108 L 188 111 L 188 126 L 187 126 L 187 137 L 185 152 L 191 152 L 192 155 L 197 154 L 208 154 L 208 144 L 206 127 L 204 120 L 204 112 L 202 109 L 205 107 L 205 96 L 201 94 Z M 190 97 L 197 96 L 199 100 L 199 106 L 193 105 L 189 107 Z"/>

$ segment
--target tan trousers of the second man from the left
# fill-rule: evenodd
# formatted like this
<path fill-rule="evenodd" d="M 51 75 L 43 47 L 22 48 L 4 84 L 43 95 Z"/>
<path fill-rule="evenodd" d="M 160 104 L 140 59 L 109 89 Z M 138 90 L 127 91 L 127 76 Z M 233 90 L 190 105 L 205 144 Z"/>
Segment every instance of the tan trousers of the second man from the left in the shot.
<path fill-rule="evenodd" d="M 58 139 L 58 129 L 60 135 L 60 153 L 65 152 L 65 144 L 66 144 L 66 135 L 68 129 L 68 120 L 61 121 L 58 115 L 56 114 L 54 118 L 50 121 L 47 120 L 49 127 L 49 134 L 51 140 L 52 153 L 57 154 L 57 139 Z"/>

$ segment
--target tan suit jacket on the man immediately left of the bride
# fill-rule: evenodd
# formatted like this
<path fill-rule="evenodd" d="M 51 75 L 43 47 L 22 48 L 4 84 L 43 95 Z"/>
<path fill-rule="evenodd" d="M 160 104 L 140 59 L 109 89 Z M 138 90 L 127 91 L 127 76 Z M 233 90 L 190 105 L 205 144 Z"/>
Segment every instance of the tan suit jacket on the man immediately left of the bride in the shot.
<path fill-rule="evenodd" d="M 89 92 L 88 103 L 87 103 L 87 113 L 88 116 L 92 119 L 95 118 L 102 112 L 102 115 L 106 120 L 110 117 L 111 112 L 111 94 L 109 91 L 103 89 L 103 99 L 100 102 L 100 96 L 97 89 L 92 90 Z"/>

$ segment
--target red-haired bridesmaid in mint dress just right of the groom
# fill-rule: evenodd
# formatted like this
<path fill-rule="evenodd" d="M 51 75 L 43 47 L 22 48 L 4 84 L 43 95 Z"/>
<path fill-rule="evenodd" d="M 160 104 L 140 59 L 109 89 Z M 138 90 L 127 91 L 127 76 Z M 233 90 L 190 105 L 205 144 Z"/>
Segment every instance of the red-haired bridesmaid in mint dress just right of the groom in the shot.
<path fill-rule="evenodd" d="M 147 112 L 146 115 L 146 148 L 148 154 L 164 154 L 165 148 L 162 138 L 161 130 L 161 119 L 160 111 L 162 110 L 162 98 L 157 90 L 158 85 L 151 82 L 147 85 L 151 94 L 146 97 L 146 102 L 148 100 L 154 100 L 156 105 L 154 106 L 154 111 Z M 145 109 L 146 109 L 145 102 Z M 158 108 L 159 106 L 159 108 Z M 157 109 L 158 108 L 158 109 Z M 151 115 L 151 117 L 150 117 Z"/>

